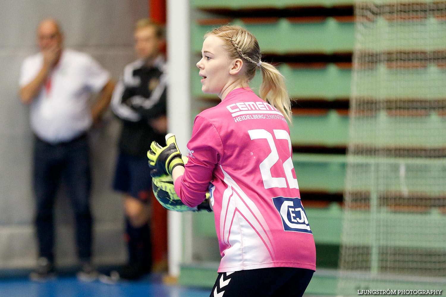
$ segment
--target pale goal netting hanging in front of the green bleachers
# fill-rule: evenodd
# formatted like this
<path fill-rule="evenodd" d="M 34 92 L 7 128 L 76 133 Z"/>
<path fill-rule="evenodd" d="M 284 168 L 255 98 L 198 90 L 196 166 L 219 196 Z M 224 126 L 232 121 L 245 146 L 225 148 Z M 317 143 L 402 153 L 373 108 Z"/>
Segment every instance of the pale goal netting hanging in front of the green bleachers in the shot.
<path fill-rule="evenodd" d="M 355 16 L 338 293 L 443 289 L 446 1 L 360 1 Z"/>

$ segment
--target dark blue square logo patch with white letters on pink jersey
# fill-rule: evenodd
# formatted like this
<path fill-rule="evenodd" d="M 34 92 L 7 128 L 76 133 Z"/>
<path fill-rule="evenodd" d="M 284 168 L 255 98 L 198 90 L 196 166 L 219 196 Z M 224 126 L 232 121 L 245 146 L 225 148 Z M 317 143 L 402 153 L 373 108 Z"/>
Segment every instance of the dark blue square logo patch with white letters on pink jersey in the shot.
<path fill-rule="evenodd" d="M 282 218 L 285 231 L 313 234 L 300 198 L 275 197 L 273 203 Z"/>

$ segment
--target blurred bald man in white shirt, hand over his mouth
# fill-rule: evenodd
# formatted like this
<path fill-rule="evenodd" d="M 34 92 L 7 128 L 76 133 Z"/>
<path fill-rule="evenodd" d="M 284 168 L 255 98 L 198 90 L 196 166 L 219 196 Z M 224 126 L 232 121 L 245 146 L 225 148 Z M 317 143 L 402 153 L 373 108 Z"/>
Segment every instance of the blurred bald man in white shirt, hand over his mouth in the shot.
<path fill-rule="evenodd" d="M 53 206 L 61 179 L 67 186 L 76 219 L 76 242 L 82 271 L 78 277 L 97 276 L 91 266 L 92 218 L 90 160 L 87 131 L 110 103 L 114 83 L 110 74 L 85 53 L 63 48 L 56 20 L 37 28 L 40 52 L 23 61 L 20 98 L 30 106 L 35 134 L 33 186 L 39 244 L 33 280 L 54 276 Z M 99 93 L 91 107 L 89 98 Z"/>

